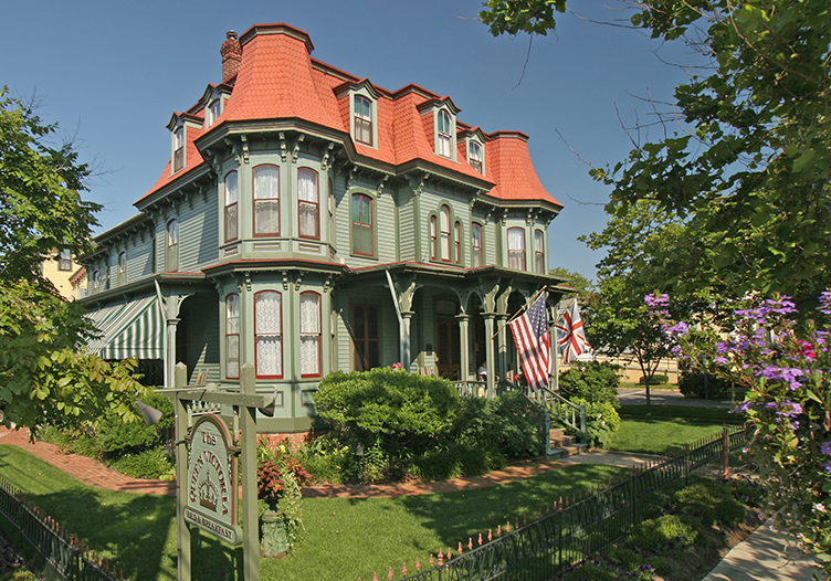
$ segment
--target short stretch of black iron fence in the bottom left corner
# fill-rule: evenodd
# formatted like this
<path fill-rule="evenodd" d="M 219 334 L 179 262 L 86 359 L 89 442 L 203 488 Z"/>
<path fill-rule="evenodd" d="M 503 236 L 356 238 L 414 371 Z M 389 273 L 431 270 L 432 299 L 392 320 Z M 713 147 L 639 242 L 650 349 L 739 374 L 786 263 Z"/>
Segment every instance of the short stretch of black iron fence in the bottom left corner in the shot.
<path fill-rule="evenodd" d="M 44 515 L 13 486 L 0 478 L 0 531 L 30 569 L 46 579 L 67 581 L 123 580 L 115 567 Z"/>

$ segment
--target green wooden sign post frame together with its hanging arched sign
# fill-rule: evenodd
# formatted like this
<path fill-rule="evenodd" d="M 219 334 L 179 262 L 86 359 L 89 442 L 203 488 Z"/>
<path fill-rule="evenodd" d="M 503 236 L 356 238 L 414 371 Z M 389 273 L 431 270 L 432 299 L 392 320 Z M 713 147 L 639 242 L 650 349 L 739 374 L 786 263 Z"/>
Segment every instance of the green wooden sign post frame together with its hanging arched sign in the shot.
<path fill-rule="evenodd" d="M 191 581 L 188 524 L 230 545 L 243 543 L 245 581 L 260 581 L 260 534 L 256 510 L 256 409 L 271 403 L 257 395 L 254 367 L 240 369 L 240 391 L 188 388 L 187 369 L 176 366 L 176 508 L 179 581 Z M 233 446 L 228 426 L 217 415 L 200 418 L 188 434 L 186 402 L 207 401 L 239 408 L 240 448 Z M 238 525 L 236 455 L 242 459 L 242 530 Z"/>

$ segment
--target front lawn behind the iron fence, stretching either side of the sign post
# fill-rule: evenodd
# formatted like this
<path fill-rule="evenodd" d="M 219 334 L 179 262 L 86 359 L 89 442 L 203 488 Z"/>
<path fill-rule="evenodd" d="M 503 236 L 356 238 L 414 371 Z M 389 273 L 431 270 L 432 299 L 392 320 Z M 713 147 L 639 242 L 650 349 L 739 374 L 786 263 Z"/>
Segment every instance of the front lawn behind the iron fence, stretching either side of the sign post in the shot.
<path fill-rule="evenodd" d="M 397 498 L 307 498 L 305 531 L 282 560 L 262 560 L 263 580 L 344 581 L 400 573 L 431 552 L 582 492 L 623 468 L 574 465 L 502 486 Z M 141 581 L 176 579 L 176 500 L 87 486 L 29 453 L 0 445 L 0 476 L 85 543 Z M 192 534 L 193 579 L 242 579 L 242 552 Z M 400 575 L 399 575 L 400 577 Z"/>

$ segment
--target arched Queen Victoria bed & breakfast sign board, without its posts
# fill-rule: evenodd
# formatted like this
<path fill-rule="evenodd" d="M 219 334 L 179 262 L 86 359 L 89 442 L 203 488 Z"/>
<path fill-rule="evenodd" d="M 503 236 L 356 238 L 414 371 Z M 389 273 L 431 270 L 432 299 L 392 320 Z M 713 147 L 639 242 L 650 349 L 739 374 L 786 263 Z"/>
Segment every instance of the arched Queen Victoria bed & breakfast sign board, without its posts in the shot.
<path fill-rule="evenodd" d="M 219 416 L 199 418 L 188 443 L 188 480 L 182 517 L 229 545 L 242 543 L 236 524 L 236 453 Z"/>

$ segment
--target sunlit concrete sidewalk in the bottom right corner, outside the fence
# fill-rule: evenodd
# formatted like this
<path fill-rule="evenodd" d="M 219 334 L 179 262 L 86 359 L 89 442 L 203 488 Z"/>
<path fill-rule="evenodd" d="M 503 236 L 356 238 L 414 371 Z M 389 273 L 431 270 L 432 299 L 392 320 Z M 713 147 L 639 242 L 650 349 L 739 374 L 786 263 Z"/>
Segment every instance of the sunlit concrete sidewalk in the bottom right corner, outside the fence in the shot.
<path fill-rule="evenodd" d="M 792 537 L 774 530 L 774 520 L 756 529 L 747 539 L 736 545 L 722 562 L 702 581 L 811 581 L 813 573 L 822 572 L 811 567 L 813 561 L 789 561 L 782 550 Z"/>

